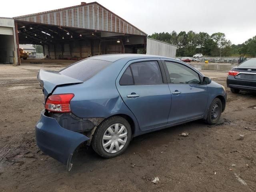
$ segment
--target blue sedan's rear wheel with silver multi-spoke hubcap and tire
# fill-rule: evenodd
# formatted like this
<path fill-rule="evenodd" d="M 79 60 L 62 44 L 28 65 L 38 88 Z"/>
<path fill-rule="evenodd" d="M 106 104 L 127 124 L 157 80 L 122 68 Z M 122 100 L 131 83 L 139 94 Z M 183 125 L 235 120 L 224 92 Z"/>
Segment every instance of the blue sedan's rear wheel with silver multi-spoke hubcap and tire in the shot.
<path fill-rule="evenodd" d="M 122 154 L 128 147 L 132 130 L 128 121 L 114 116 L 106 119 L 94 132 L 92 148 L 104 158 L 113 158 Z"/>

